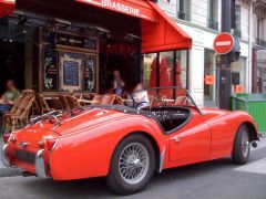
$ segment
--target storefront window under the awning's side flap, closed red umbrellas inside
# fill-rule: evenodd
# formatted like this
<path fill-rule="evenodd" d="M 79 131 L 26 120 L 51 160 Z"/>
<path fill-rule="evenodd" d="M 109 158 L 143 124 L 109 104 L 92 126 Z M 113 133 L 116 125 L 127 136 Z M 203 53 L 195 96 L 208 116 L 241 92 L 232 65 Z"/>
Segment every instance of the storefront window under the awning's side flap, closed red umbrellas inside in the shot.
<path fill-rule="evenodd" d="M 145 87 L 177 86 L 181 91 L 181 88 L 187 87 L 186 72 L 186 50 L 166 51 L 144 55 L 143 84 Z M 167 95 L 167 97 L 175 97 L 178 95 L 178 91 L 174 91 L 171 88 L 167 91 L 167 94 L 164 95 Z"/>

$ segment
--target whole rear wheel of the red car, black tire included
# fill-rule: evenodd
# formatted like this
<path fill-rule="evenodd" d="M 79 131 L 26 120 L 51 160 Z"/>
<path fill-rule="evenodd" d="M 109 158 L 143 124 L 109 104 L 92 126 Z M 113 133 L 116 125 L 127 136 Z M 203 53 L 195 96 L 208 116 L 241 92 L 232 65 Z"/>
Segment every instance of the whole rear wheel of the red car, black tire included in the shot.
<path fill-rule="evenodd" d="M 115 148 L 106 182 L 120 195 L 132 195 L 149 185 L 154 171 L 155 153 L 152 143 L 143 135 L 133 134 Z"/>

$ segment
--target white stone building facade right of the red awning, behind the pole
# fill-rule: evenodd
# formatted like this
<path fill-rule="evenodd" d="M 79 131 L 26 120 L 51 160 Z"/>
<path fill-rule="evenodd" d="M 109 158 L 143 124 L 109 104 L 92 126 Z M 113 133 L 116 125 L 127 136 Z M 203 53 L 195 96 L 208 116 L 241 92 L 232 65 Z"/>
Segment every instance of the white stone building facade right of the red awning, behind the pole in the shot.
<path fill-rule="evenodd" d="M 232 86 L 232 92 L 263 92 L 265 64 L 259 57 L 265 51 L 257 50 L 266 44 L 265 2 L 236 0 L 235 3 L 234 33 L 241 41 L 241 56 L 231 64 L 231 71 L 239 73 L 241 82 Z M 213 42 L 221 33 L 222 0 L 160 0 L 158 4 L 193 38 L 188 90 L 200 106 L 217 107 L 223 98 L 218 96 L 221 57 Z"/>

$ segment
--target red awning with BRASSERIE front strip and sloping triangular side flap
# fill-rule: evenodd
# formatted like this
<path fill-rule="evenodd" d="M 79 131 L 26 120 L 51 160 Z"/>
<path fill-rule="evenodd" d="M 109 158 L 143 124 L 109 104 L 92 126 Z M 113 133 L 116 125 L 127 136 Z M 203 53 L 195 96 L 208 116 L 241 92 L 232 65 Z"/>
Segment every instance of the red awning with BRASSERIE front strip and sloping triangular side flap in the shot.
<path fill-rule="evenodd" d="M 75 1 L 140 18 L 143 53 L 192 48 L 192 39 L 150 0 Z"/>

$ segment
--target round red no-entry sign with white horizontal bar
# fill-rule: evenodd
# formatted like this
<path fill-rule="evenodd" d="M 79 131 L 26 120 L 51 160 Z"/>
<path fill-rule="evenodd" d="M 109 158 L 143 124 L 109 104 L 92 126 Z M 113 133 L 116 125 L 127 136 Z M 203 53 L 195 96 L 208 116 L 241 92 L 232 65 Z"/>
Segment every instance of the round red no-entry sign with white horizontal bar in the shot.
<path fill-rule="evenodd" d="M 222 32 L 214 40 L 214 50 L 218 54 L 227 54 L 234 48 L 234 36 L 231 33 Z"/>

